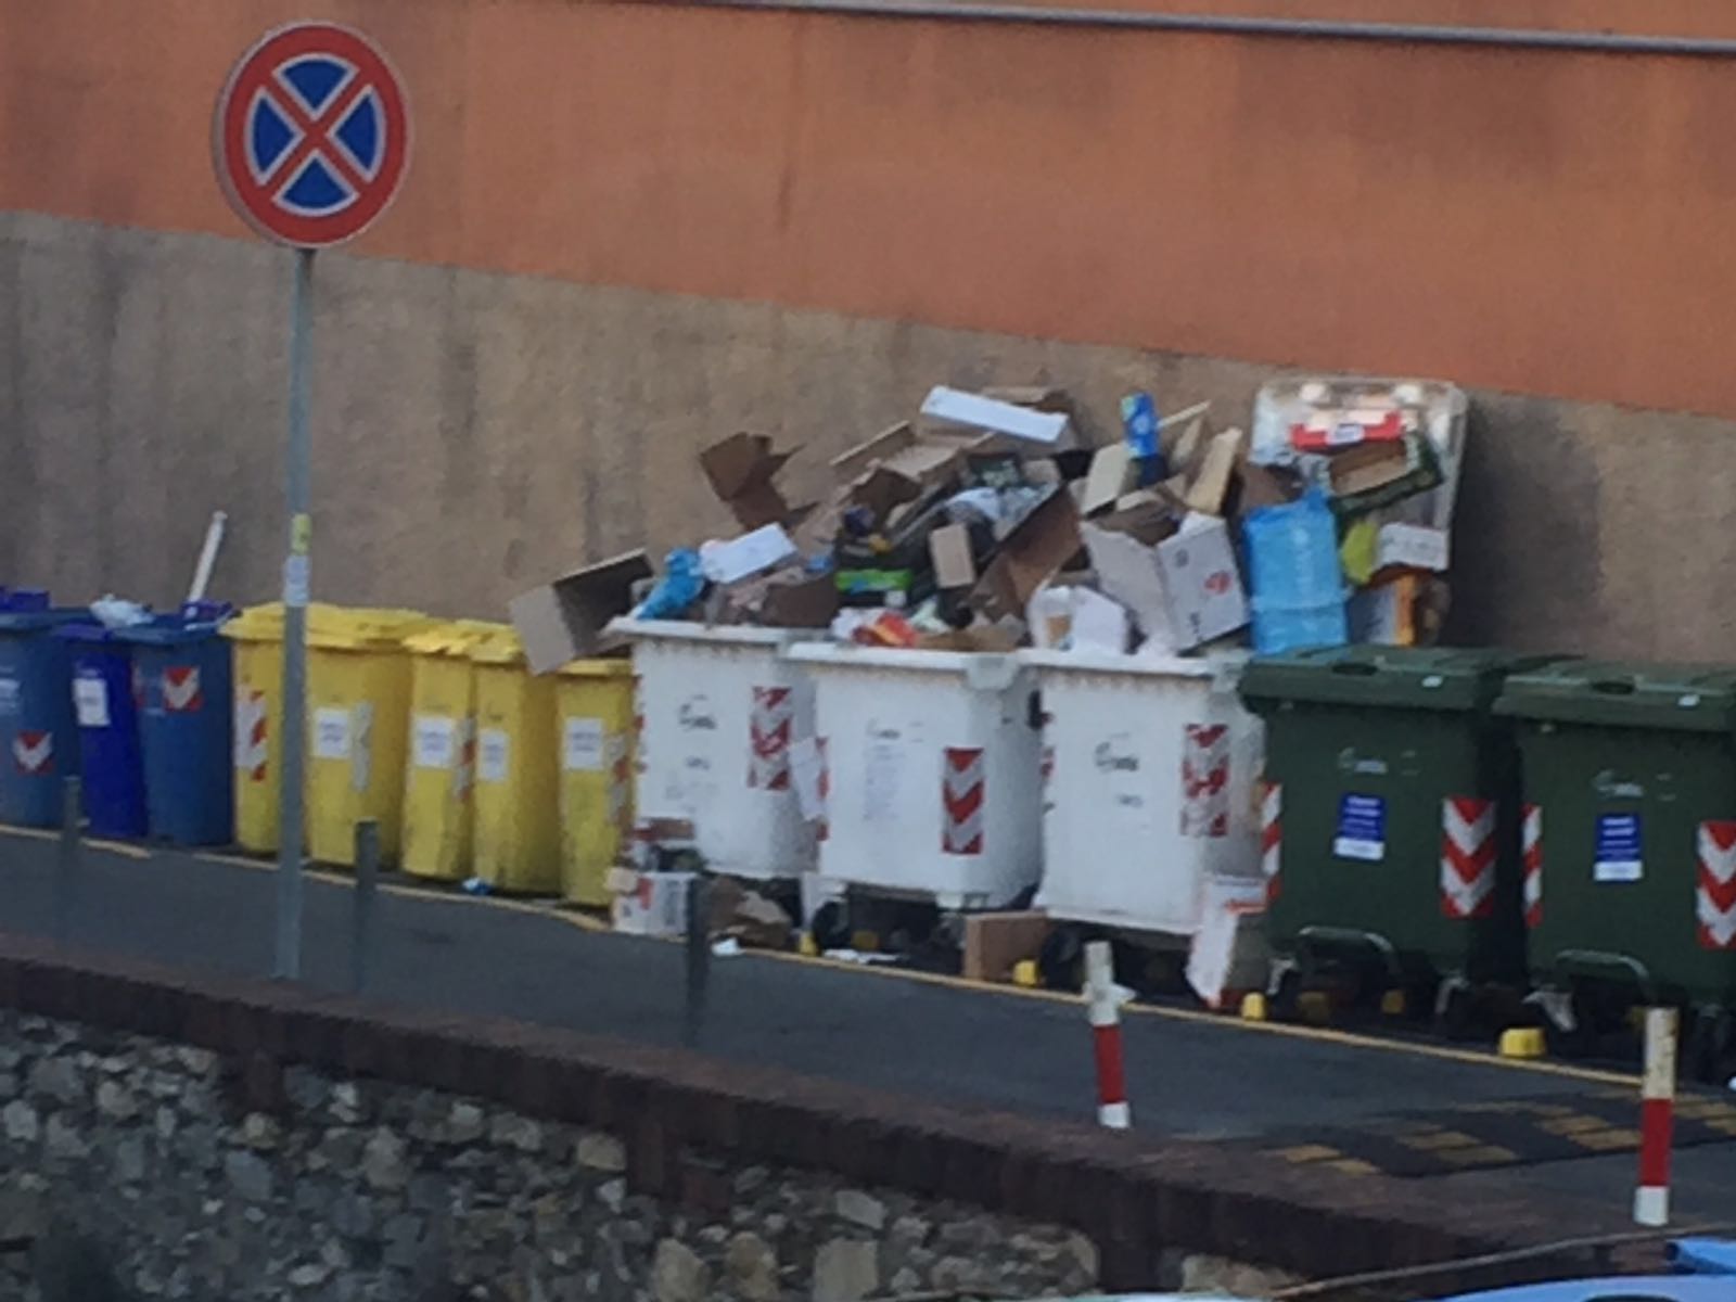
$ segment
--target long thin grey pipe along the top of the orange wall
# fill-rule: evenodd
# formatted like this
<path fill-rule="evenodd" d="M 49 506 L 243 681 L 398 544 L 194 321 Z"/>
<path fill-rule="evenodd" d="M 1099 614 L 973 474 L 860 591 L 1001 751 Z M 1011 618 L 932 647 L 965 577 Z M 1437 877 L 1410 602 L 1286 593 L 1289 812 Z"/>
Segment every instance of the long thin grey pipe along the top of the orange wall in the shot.
<path fill-rule="evenodd" d="M 970 3 L 970 0 L 696 0 L 701 9 L 757 9 L 845 17 L 929 17 L 955 23 L 1036 23 L 1057 28 L 1128 28 L 1212 36 L 1352 40 L 1396 45 L 1472 45 L 1505 50 L 1736 57 L 1736 40 L 1712 36 L 1623 36 L 1609 31 L 1460 28 L 1427 23 L 1349 23 L 1338 19 L 1227 17 L 1220 14 L 1144 14 L 1127 9 L 1054 9 Z"/>

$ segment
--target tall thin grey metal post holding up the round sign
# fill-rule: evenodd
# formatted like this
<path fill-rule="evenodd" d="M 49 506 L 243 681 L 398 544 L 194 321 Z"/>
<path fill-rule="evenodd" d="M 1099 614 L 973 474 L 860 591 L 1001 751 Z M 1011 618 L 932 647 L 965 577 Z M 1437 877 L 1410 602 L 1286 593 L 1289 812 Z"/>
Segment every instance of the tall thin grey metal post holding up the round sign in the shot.
<path fill-rule="evenodd" d="M 283 562 L 283 743 L 278 811 L 278 950 L 273 976 L 302 976 L 302 767 L 307 748 L 307 590 L 311 451 L 307 434 L 312 387 L 314 250 L 295 250 L 295 292 L 290 304 L 290 448 L 285 496 L 290 509 L 290 552 Z"/>

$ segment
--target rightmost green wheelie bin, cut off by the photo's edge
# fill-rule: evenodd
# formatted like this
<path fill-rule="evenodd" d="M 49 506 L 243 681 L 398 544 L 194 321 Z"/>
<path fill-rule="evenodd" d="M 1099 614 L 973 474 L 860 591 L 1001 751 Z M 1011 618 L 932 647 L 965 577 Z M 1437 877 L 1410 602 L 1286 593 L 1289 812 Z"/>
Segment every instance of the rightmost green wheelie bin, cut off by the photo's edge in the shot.
<path fill-rule="evenodd" d="M 1569 1050 L 1675 1005 L 1736 1071 L 1736 668 L 1578 661 L 1507 681 L 1524 762 L 1533 1002 Z"/>

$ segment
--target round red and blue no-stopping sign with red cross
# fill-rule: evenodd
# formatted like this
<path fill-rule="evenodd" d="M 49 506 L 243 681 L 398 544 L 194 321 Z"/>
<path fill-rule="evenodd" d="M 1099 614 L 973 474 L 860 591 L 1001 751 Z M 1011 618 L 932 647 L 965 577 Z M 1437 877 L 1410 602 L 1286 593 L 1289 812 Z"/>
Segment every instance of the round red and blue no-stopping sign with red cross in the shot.
<path fill-rule="evenodd" d="M 212 153 L 241 220 L 278 243 L 326 248 L 361 234 L 398 194 L 410 102 L 366 36 L 293 23 L 229 73 Z"/>

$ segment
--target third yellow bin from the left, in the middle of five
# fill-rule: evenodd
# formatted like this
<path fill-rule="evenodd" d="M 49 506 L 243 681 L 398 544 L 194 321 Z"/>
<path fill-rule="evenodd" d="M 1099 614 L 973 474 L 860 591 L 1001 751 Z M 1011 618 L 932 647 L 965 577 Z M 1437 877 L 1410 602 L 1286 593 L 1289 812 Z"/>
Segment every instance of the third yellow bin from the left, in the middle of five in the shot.
<path fill-rule="evenodd" d="M 404 767 L 404 854 L 411 877 L 470 875 L 476 788 L 477 642 L 503 623 L 457 620 L 404 639 L 410 651 L 410 762 Z"/>

